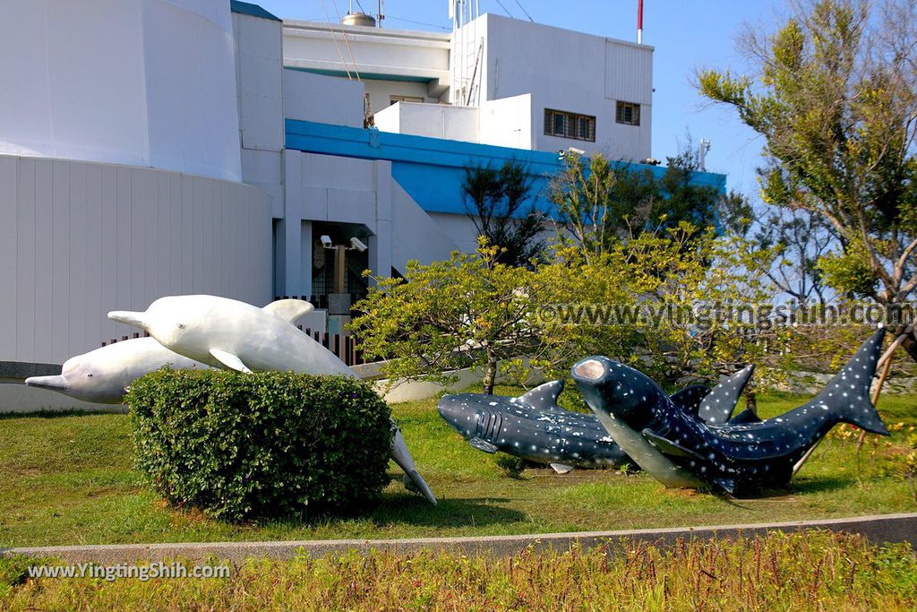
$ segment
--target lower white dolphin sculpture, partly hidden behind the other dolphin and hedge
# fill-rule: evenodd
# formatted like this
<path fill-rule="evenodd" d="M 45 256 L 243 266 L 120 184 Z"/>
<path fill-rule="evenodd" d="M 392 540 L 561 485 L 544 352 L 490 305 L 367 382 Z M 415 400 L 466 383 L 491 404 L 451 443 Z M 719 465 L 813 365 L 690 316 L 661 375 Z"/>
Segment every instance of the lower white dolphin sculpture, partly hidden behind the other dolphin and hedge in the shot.
<path fill-rule="evenodd" d="M 165 365 L 175 370 L 210 369 L 205 363 L 170 351 L 156 339 L 135 338 L 71 357 L 64 362 L 60 375 L 31 376 L 26 384 L 84 402 L 120 404 L 129 384 Z"/>

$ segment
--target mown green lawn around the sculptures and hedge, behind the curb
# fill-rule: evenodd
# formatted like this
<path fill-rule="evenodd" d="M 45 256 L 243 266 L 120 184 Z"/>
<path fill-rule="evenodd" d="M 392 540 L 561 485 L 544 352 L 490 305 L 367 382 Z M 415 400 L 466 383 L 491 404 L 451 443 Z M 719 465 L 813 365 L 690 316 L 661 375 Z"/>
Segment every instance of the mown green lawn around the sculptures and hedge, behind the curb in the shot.
<path fill-rule="evenodd" d="M 498 393 L 515 395 L 503 388 Z M 766 395 L 762 416 L 804 398 Z M 309 540 L 495 535 L 757 523 L 917 510 L 909 485 L 889 469 L 905 435 L 825 440 L 787 490 L 755 499 L 665 489 L 646 474 L 517 471 L 505 455 L 472 449 L 436 414 L 436 400 L 392 406 L 436 507 L 392 484 L 380 506 L 356 518 L 229 525 L 164 504 L 133 470 L 127 415 L 0 418 L 0 546 Z M 917 424 L 917 397 L 885 395 L 886 422 Z M 886 443 L 889 442 L 890 446 Z"/>

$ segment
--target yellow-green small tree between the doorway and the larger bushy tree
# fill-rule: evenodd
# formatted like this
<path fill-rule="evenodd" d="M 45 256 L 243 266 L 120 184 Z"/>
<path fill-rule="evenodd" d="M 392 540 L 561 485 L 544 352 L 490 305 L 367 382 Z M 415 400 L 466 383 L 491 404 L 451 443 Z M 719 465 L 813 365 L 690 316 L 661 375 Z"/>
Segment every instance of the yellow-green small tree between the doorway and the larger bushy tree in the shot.
<path fill-rule="evenodd" d="M 482 241 L 475 253 L 455 251 L 446 261 L 409 261 L 403 278 L 376 278 L 354 309 L 350 329 L 392 384 L 424 379 L 458 380 L 456 371 L 483 371 L 492 394 L 498 362 L 530 351 L 538 342 L 528 325 L 534 273 L 498 261 L 500 251 Z"/>

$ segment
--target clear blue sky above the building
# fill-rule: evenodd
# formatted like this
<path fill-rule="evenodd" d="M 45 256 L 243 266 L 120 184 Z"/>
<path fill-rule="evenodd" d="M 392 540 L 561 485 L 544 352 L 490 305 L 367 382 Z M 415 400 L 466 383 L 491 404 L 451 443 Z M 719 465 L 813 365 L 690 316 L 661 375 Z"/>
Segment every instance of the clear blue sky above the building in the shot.
<path fill-rule="evenodd" d="M 375 13 L 376 0 L 359 2 L 366 12 Z M 636 39 L 637 0 L 481 0 L 481 13 L 525 19 L 520 3 L 538 23 L 613 39 Z M 336 20 L 336 4 L 341 14 L 348 10 L 348 0 L 260 0 L 258 4 L 278 17 L 316 21 L 326 20 L 323 5 L 332 20 Z M 735 113 L 705 105 L 691 86 L 691 76 L 703 66 L 744 72 L 736 36 L 744 24 L 773 31 L 788 14 L 786 4 L 784 0 L 645 0 L 644 42 L 656 48 L 653 157 L 664 160 L 676 153 L 689 131 L 695 141 L 710 139 L 713 146 L 707 169 L 724 172 L 730 189 L 757 201 L 755 167 L 761 139 Z M 385 12 L 389 28 L 451 29 L 447 0 L 388 0 Z"/>

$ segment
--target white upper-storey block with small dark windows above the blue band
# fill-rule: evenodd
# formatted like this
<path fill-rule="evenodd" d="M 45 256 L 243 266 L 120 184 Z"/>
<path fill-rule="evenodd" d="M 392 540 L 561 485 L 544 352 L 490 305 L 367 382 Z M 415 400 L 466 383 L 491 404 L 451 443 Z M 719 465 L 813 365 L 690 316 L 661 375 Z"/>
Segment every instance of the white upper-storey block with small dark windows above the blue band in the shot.
<path fill-rule="evenodd" d="M 452 34 L 287 21 L 283 64 L 359 80 L 384 131 L 650 156 L 646 45 L 490 14 Z"/>

